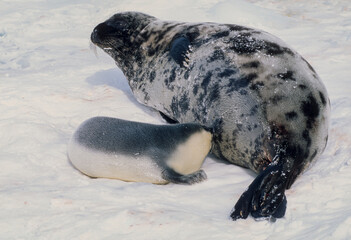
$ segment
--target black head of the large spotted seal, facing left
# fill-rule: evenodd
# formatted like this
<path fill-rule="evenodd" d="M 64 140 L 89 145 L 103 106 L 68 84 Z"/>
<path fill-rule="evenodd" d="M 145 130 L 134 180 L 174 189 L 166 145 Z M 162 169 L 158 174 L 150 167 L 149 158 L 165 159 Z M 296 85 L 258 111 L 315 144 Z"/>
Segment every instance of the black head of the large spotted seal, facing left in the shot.
<path fill-rule="evenodd" d="M 109 54 L 124 68 L 127 59 L 136 54 L 139 44 L 136 44 L 140 32 L 156 18 L 139 12 L 123 12 L 113 15 L 97 25 L 91 33 L 91 41 Z M 133 59 L 130 59 L 133 61 Z"/>

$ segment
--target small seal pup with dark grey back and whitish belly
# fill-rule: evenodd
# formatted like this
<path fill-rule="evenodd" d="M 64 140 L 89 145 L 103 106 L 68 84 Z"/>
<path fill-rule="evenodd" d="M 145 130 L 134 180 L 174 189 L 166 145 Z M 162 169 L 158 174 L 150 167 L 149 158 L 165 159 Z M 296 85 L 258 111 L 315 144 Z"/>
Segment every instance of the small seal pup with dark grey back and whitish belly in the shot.
<path fill-rule="evenodd" d="M 90 177 L 132 182 L 193 184 L 212 134 L 196 123 L 154 125 L 110 117 L 84 121 L 68 144 L 72 164 Z"/>

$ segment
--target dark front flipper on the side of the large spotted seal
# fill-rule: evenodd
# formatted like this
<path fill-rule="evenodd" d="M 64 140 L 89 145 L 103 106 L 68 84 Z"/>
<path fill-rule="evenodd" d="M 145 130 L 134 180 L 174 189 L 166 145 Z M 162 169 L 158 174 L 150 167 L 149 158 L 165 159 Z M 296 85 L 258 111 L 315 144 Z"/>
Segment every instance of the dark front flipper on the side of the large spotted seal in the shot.
<path fill-rule="evenodd" d="M 181 67 L 187 67 L 189 64 L 190 51 L 189 39 L 185 36 L 180 36 L 172 41 L 169 54 Z"/>

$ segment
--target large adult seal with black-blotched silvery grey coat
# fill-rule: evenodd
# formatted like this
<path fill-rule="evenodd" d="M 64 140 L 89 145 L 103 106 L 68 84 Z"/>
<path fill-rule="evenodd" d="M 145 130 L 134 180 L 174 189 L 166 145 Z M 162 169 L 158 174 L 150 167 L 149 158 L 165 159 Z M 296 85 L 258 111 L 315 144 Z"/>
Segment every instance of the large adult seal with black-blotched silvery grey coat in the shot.
<path fill-rule="evenodd" d="M 135 97 L 170 122 L 212 127 L 212 152 L 256 179 L 232 219 L 282 217 L 285 190 L 323 152 L 330 102 L 312 66 L 269 33 L 124 12 L 91 34 Z"/>

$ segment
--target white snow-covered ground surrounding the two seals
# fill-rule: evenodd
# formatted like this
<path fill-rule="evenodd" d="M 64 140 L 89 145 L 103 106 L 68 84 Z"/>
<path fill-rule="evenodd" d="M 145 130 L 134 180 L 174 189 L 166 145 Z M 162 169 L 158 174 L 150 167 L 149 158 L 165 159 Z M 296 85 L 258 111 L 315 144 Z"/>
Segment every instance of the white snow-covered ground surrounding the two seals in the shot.
<path fill-rule="evenodd" d="M 314 66 L 332 102 L 329 143 L 286 192 L 283 219 L 231 221 L 255 175 L 211 158 L 208 180 L 192 186 L 91 179 L 72 167 L 67 142 L 85 119 L 162 122 L 89 47 L 94 26 L 126 10 L 261 28 Z M 351 239 L 350 63 L 349 0 L 2 0 L 0 239 Z"/>

